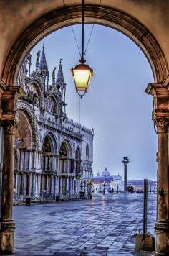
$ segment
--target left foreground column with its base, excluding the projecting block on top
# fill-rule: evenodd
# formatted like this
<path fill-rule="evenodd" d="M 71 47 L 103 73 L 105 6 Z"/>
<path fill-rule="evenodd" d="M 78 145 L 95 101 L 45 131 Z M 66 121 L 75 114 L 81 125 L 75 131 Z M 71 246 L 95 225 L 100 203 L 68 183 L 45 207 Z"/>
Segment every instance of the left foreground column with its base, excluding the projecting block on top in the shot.
<path fill-rule="evenodd" d="M 13 132 L 14 123 L 4 124 L 4 157 L 2 169 L 1 187 L 1 229 L 0 251 L 5 253 L 14 252 L 14 229 L 12 220 L 12 206 L 14 196 L 14 150 Z"/>

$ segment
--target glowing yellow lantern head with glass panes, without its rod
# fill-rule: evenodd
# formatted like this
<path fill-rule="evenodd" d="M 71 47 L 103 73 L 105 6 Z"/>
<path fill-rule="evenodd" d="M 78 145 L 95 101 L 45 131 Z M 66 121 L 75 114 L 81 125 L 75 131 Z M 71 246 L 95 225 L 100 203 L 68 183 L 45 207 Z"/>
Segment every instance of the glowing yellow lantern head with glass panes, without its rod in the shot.
<path fill-rule="evenodd" d="M 72 76 L 74 77 L 76 91 L 87 92 L 90 80 L 93 76 L 92 68 L 90 68 L 89 65 L 80 63 L 79 65 L 76 65 L 75 68 L 72 68 L 71 71 Z"/>

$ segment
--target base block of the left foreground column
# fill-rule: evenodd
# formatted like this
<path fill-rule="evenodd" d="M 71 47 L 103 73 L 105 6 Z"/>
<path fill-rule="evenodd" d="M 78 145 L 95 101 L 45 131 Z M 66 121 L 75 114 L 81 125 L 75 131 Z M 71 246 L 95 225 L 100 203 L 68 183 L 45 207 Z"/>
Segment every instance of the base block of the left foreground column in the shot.
<path fill-rule="evenodd" d="M 0 254 L 9 255 L 14 253 L 14 221 L 1 221 L 0 229 Z"/>

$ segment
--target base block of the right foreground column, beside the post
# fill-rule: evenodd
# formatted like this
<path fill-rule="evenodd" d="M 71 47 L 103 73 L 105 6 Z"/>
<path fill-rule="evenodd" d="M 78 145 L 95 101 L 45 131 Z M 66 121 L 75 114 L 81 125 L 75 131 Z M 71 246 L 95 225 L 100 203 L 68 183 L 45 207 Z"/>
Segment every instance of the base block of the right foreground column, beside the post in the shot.
<path fill-rule="evenodd" d="M 158 219 L 155 223 L 155 255 L 169 255 L 169 220 Z"/>

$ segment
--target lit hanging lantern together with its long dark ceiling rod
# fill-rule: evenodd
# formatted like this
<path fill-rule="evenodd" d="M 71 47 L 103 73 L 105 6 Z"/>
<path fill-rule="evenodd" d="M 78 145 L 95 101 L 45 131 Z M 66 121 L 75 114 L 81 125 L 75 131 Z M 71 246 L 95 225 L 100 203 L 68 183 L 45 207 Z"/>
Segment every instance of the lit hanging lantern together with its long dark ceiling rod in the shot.
<path fill-rule="evenodd" d="M 80 64 L 77 64 L 75 68 L 72 68 L 71 70 L 76 91 L 81 98 L 87 92 L 90 80 L 93 76 L 92 68 L 90 68 L 89 65 L 84 64 L 86 62 L 86 60 L 84 60 L 84 6 L 85 1 L 82 0 L 82 54 L 81 59 L 79 60 Z"/>

